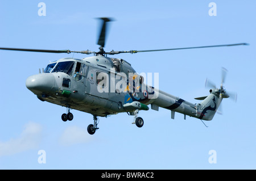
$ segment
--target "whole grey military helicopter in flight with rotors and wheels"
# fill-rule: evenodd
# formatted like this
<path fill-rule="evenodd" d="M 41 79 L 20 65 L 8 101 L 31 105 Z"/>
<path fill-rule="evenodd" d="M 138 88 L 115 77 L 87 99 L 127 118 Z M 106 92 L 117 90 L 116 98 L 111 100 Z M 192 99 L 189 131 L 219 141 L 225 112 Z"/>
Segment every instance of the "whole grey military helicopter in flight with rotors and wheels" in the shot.
<path fill-rule="evenodd" d="M 87 131 L 94 134 L 98 128 L 98 116 L 107 117 L 121 112 L 127 112 L 134 116 L 133 124 L 141 128 L 144 124 L 139 111 L 151 109 L 159 111 L 159 107 L 171 111 L 171 119 L 175 118 L 175 112 L 202 120 L 212 120 L 222 99 L 236 95 L 224 89 L 226 72 L 222 68 L 220 88 L 208 79 L 206 87 L 210 87 L 210 94 L 200 98 L 200 103 L 190 103 L 177 96 L 168 94 L 157 87 L 149 86 L 144 82 L 144 77 L 138 74 L 131 64 L 122 58 L 111 58 L 108 55 L 121 53 L 157 52 L 164 50 L 180 50 L 212 47 L 231 47 L 248 45 L 247 43 L 210 45 L 203 47 L 186 47 L 154 50 L 129 50 L 105 52 L 105 38 L 110 18 L 99 18 L 102 21 L 101 31 L 98 37 L 98 52 L 90 50 L 47 50 L 47 49 L 23 49 L 0 48 L 2 50 L 19 50 L 27 52 L 46 53 L 82 53 L 94 54 L 92 57 L 61 58 L 50 62 L 43 72 L 31 75 L 26 79 L 26 87 L 32 91 L 39 100 L 57 104 L 67 108 L 67 112 L 61 115 L 63 121 L 73 120 L 71 110 L 79 110 L 93 115 L 93 124 L 89 124 Z M 203 121 L 202 121 L 203 122 Z"/>

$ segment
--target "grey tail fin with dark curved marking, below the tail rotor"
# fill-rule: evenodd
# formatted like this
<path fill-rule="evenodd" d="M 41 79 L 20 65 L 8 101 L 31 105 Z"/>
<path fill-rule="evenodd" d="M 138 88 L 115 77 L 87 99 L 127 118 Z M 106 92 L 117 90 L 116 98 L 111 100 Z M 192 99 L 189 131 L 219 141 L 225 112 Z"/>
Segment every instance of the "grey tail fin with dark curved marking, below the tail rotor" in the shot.
<path fill-rule="evenodd" d="M 222 97 L 216 96 L 211 92 L 200 104 L 197 104 L 197 115 L 202 120 L 212 120 L 218 107 L 221 104 Z"/>

